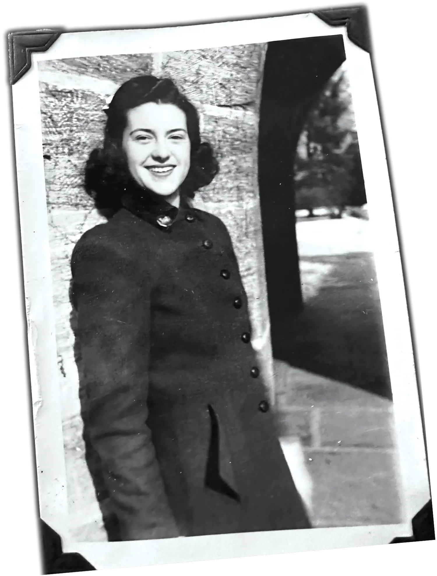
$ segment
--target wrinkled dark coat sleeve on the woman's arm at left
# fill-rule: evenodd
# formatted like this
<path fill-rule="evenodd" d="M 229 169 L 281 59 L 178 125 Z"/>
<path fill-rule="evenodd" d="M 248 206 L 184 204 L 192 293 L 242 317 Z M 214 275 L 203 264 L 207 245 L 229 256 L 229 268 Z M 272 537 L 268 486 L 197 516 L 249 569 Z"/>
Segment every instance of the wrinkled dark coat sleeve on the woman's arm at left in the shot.
<path fill-rule="evenodd" d="M 79 242 L 71 298 L 87 426 L 122 540 L 179 536 L 165 495 L 148 416 L 150 278 L 116 245 Z"/>

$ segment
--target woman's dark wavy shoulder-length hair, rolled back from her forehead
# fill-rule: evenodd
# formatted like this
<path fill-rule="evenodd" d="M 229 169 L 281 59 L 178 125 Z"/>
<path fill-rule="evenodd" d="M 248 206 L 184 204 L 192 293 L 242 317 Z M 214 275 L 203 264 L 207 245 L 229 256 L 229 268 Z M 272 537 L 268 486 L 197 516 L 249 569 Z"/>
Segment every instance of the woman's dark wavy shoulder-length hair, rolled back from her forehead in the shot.
<path fill-rule="evenodd" d="M 106 213 L 120 209 L 121 196 L 132 181 L 122 148 L 127 112 L 147 102 L 174 104 L 186 115 L 191 158 L 189 172 L 180 187 L 181 196 L 194 198 L 195 192 L 208 185 L 218 172 L 212 147 L 201 142 L 198 112 L 175 84 L 154 76 L 132 78 L 120 86 L 108 105 L 103 147 L 91 152 L 85 166 L 85 190 L 96 208 Z"/>

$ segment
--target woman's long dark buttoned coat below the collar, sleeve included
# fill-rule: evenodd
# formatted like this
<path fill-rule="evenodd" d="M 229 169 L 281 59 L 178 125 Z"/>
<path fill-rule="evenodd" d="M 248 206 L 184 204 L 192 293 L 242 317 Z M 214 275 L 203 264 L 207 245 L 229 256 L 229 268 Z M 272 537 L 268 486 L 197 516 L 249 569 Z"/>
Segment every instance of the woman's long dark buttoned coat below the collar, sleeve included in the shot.
<path fill-rule="evenodd" d="M 86 426 L 121 539 L 308 528 L 227 229 L 185 204 L 161 228 L 124 203 L 71 260 Z"/>

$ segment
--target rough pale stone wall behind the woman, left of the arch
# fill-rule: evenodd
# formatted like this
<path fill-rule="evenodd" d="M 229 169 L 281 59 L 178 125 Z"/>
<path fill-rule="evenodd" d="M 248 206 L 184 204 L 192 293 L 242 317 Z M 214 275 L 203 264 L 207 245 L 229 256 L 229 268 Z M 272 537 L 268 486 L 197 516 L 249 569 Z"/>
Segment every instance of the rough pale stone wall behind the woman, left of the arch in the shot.
<path fill-rule="evenodd" d="M 265 51 L 265 44 L 251 44 L 51 60 L 38 65 L 69 501 L 73 517 L 78 518 L 78 533 L 85 537 L 86 532 L 87 539 L 105 536 L 84 460 L 68 288 L 75 242 L 85 230 L 103 221 L 82 188 L 86 158 L 101 143 L 106 119 L 103 107 L 120 84 L 140 74 L 172 78 L 197 105 L 202 135 L 216 151 L 220 173 L 199 191 L 194 206 L 218 215 L 229 229 L 248 294 L 254 347 L 273 397 L 257 179 Z"/>

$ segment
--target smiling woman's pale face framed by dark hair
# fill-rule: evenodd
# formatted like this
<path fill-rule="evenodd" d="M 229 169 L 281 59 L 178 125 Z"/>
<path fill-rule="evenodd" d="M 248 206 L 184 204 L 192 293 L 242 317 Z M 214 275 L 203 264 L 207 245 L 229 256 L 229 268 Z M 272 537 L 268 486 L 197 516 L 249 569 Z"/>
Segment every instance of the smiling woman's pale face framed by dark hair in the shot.
<path fill-rule="evenodd" d="M 123 150 L 133 178 L 160 196 L 178 191 L 190 169 L 187 119 L 174 104 L 148 102 L 127 112 Z"/>

